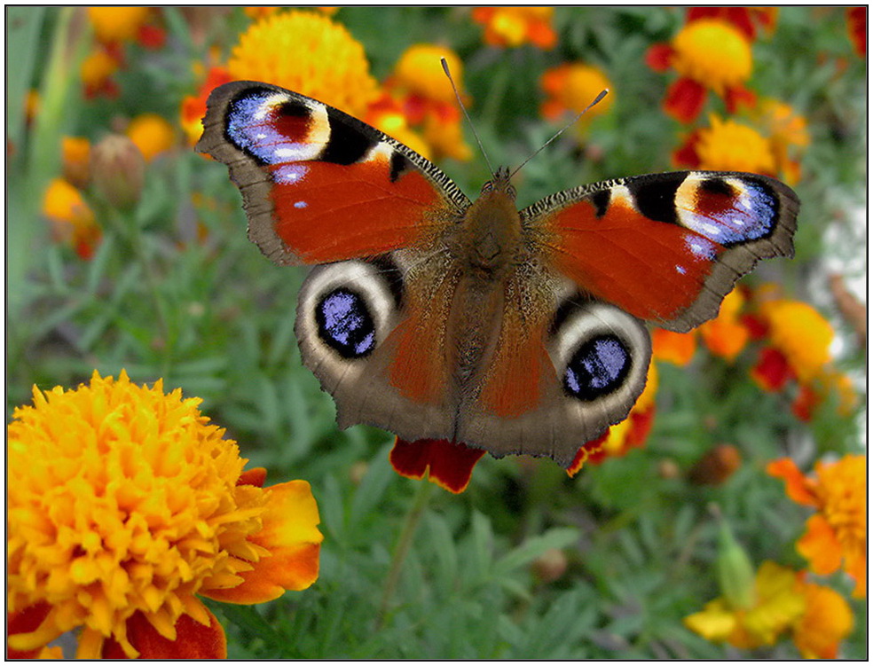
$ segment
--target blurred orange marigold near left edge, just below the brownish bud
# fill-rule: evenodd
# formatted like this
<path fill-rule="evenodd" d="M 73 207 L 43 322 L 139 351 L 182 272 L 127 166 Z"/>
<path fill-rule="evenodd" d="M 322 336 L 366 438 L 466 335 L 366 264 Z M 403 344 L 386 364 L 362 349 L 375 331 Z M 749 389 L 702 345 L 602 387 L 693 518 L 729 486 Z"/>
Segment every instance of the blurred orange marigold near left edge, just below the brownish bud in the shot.
<path fill-rule="evenodd" d="M 51 221 L 56 238 L 69 243 L 77 255 L 83 259 L 94 255 L 103 232 L 82 192 L 55 178 L 43 195 L 43 215 Z"/>

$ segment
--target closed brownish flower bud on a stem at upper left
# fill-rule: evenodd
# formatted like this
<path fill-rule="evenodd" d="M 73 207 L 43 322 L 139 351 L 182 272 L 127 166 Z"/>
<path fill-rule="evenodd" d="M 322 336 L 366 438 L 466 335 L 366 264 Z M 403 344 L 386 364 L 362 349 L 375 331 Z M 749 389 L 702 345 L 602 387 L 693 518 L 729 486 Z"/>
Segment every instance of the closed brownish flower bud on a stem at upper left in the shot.
<path fill-rule="evenodd" d="M 91 152 L 91 177 L 97 191 L 115 208 L 131 208 L 143 191 L 146 161 L 128 137 L 111 134 Z"/>

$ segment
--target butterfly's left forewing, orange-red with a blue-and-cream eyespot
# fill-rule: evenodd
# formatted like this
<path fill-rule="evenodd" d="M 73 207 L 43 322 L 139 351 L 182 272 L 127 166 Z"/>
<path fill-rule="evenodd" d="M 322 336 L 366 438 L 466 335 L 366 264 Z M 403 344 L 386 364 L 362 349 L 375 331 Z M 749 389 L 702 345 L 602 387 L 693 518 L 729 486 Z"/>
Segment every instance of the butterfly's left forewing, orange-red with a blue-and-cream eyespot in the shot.
<path fill-rule="evenodd" d="M 214 90 L 197 150 L 231 169 L 249 238 L 280 264 L 410 247 L 469 206 L 448 176 L 405 145 L 266 83 Z"/>

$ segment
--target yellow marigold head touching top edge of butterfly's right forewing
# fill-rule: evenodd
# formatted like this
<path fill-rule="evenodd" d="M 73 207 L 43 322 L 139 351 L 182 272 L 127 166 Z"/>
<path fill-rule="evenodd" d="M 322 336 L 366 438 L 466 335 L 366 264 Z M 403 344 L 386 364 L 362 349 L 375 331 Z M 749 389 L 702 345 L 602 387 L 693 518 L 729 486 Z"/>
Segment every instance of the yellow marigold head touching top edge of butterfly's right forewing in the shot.
<path fill-rule="evenodd" d="M 693 25 L 693 24 L 692 24 Z M 699 168 L 712 171 L 751 171 L 772 175 L 776 162 L 770 142 L 759 132 L 733 120 L 710 116 L 710 127 L 697 135 Z"/>

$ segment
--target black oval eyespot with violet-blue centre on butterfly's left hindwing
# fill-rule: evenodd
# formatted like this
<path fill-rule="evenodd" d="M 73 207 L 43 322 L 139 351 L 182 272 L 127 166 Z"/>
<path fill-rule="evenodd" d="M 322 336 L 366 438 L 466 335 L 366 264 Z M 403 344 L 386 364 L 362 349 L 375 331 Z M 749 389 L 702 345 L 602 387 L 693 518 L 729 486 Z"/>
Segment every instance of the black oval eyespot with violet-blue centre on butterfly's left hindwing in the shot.
<path fill-rule="evenodd" d="M 316 305 L 319 337 L 343 358 L 366 357 L 376 346 L 376 328 L 360 294 L 340 287 Z"/>

